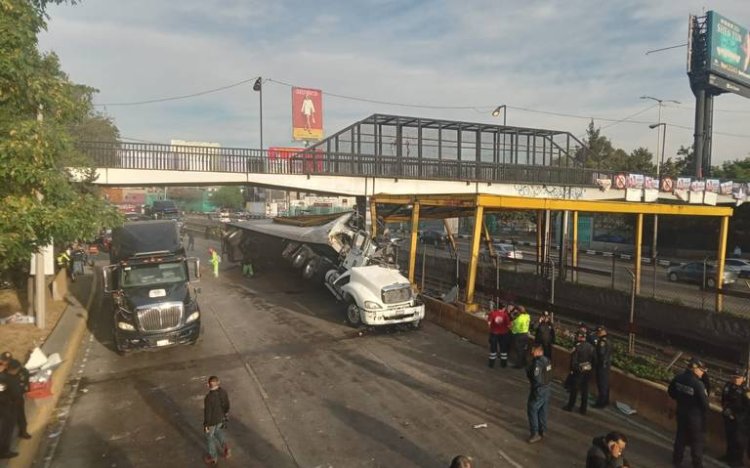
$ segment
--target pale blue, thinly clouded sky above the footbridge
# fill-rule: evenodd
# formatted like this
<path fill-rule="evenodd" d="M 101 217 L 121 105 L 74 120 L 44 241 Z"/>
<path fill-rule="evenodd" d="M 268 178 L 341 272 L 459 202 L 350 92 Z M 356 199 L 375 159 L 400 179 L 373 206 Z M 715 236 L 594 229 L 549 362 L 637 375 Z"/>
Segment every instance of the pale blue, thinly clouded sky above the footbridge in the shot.
<path fill-rule="evenodd" d="M 252 81 L 115 104 L 262 76 L 265 147 L 294 145 L 291 84 L 323 90 L 326 134 L 374 113 L 501 123 L 505 104 L 508 125 L 582 138 L 593 119 L 626 151 L 659 140 L 640 97 L 676 100 L 661 112 L 670 157 L 692 144 L 687 49 L 646 52 L 684 44 L 709 9 L 750 26 L 748 0 L 83 0 L 50 6 L 40 47 L 133 140 L 257 148 Z M 750 99 L 714 103 L 713 164 L 750 156 Z"/>

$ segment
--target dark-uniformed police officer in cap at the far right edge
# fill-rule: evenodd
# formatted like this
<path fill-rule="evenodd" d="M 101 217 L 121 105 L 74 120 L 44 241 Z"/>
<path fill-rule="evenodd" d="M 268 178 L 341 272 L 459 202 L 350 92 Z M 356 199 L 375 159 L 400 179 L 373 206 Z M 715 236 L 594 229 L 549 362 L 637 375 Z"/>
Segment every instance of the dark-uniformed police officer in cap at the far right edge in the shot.
<path fill-rule="evenodd" d="M 747 438 L 746 418 L 750 412 L 745 372 L 735 369 L 721 392 L 721 415 L 727 439 L 726 462 L 729 466 L 744 466 L 743 456 Z"/>

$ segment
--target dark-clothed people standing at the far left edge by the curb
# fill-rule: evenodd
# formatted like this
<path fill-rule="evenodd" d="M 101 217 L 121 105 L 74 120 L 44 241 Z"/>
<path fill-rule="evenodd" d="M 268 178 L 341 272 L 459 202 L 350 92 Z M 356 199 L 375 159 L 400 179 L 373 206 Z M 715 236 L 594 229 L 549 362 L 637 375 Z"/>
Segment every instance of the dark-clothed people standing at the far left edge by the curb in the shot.
<path fill-rule="evenodd" d="M 15 458 L 11 451 L 13 433 L 30 439 L 26 427 L 24 394 L 29 391 L 29 371 L 9 352 L 0 354 L 0 459 Z"/>

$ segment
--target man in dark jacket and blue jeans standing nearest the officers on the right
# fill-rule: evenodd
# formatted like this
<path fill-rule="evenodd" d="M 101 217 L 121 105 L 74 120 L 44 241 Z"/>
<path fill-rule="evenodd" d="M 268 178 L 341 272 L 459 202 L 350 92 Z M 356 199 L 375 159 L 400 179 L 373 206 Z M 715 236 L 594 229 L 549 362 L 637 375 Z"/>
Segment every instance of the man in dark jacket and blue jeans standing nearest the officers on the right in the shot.
<path fill-rule="evenodd" d="M 526 402 L 526 415 L 529 418 L 529 443 L 542 440 L 547 430 L 547 408 L 549 407 L 549 383 L 552 378 L 552 364 L 544 355 L 540 344 L 531 348 L 531 364 L 526 369 L 529 378 L 529 399 Z"/>

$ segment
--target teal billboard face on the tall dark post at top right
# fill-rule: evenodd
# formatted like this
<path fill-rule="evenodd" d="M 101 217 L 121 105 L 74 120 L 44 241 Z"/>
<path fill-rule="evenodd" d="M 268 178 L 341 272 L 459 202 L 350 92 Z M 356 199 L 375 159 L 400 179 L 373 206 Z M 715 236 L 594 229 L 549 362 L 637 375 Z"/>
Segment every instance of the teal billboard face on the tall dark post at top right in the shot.
<path fill-rule="evenodd" d="M 715 11 L 707 21 L 709 71 L 750 87 L 750 31 Z"/>

